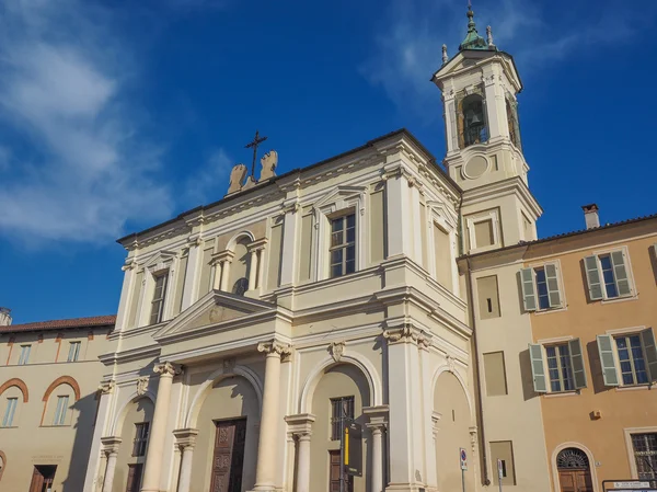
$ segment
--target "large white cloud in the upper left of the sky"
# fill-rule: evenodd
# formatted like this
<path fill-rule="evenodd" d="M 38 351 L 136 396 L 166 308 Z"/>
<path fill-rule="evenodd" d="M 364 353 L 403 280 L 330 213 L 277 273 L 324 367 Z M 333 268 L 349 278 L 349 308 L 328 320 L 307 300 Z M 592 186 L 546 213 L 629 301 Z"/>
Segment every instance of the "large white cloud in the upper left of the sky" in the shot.
<path fill-rule="evenodd" d="M 82 0 L 2 7 L 0 118 L 33 152 L 7 150 L 0 233 L 104 243 L 128 220 L 168 217 L 172 199 L 154 174 L 162 149 L 139 134 L 125 95 L 130 58 L 111 13 Z"/>

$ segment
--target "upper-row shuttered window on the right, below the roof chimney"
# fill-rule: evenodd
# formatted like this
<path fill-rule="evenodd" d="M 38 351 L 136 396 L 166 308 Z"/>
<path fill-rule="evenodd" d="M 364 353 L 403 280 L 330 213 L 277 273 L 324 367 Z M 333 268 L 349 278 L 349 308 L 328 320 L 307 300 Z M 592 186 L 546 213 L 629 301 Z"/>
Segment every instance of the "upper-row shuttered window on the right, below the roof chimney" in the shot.
<path fill-rule="evenodd" d="M 589 300 L 618 299 L 634 294 L 625 249 L 584 259 Z"/>

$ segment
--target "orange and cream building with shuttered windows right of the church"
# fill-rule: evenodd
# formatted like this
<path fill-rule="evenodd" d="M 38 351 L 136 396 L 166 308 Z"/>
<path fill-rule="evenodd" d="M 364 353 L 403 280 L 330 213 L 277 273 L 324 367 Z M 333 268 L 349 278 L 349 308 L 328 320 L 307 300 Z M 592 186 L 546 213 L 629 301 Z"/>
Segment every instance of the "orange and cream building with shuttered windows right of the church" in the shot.
<path fill-rule="evenodd" d="M 584 208 L 584 231 L 461 259 L 474 279 L 485 432 L 507 433 L 509 485 L 532 479 L 521 465 L 531 443 L 510 432 L 531 412 L 542 416 L 543 490 L 657 487 L 657 216 L 600 227 L 598 207 Z"/>

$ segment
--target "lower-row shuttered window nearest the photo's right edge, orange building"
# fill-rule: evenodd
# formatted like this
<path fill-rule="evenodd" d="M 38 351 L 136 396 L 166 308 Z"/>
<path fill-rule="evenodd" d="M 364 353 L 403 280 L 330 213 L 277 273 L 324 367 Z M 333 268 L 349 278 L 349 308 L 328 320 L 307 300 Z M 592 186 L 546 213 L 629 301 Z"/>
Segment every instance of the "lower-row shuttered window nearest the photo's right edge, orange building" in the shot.
<path fill-rule="evenodd" d="M 598 335 L 606 386 L 652 385 L 657 381 L 657 347 L 653 329 Z"/>

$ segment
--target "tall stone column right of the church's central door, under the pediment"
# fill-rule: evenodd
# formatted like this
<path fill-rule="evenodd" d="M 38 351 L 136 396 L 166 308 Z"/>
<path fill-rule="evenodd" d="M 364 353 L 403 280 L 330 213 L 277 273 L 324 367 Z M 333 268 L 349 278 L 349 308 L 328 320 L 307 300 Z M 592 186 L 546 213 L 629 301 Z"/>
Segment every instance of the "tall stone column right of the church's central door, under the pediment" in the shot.
<path fill-rule="evenodd" d="M 257 345 L 258 352 L 267 354 L 265 361 L 265 388 L 263 391 L 263 411 L 261 415 L 260 438 L 257 445 L 257 465 L 254 490 L 273 491 L 276 477 L 276 448 L 278 439 L 278 397 L 280 387 L 280 358 L 289 356 L 291 348 L 275 340 Z"/>

